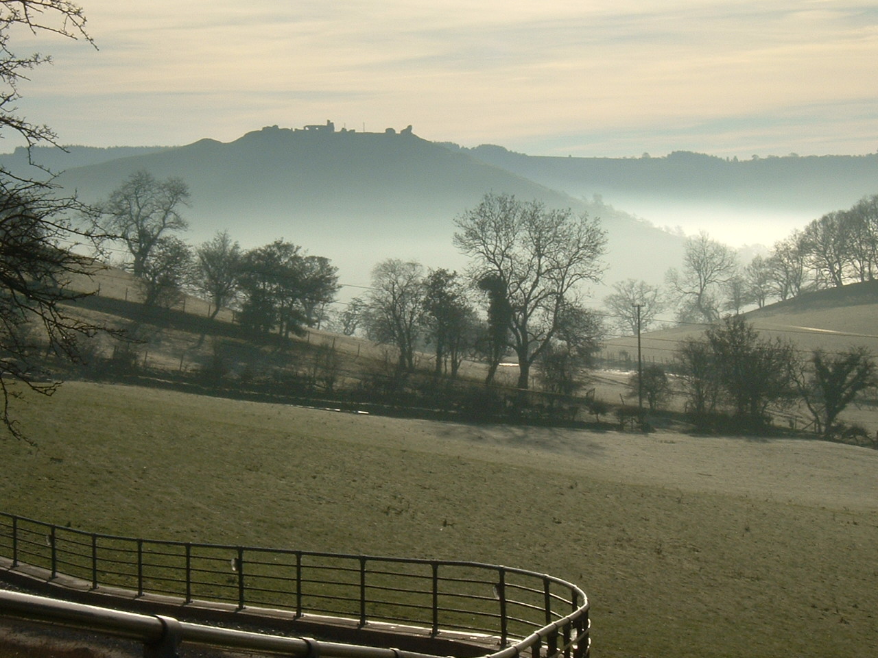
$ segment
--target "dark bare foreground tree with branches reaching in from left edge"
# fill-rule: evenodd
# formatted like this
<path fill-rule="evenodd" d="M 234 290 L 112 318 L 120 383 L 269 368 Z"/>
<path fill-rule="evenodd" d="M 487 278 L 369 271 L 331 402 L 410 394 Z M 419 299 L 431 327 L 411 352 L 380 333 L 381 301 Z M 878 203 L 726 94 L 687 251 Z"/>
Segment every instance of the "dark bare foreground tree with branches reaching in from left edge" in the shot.
<path fill-rule="evenodd" d="M 64 0 L 0 3 L 0 136 L 24 139 L 28 148 L 57 146 L 50 128 L 18 114 L 19 83 L 49 61 L 13 52 L 19 29 L 91 43 L 83 10 Z M 21 386 L 54 393 L 59 382 L 45 368 L 47 354 L 76 361 L 81 340 L 102 328 L 71 315 L 66 305 L 82 297 L 73 290 L 75 280 L 96 269 L 76 253 L 97 237 L 74 220 L 84 210 L 75 198 L 57 197 L 44 170 L 27 175 L 0 168 L 0 420 L 17 438 L 26 440 L 10 403 Z"/>

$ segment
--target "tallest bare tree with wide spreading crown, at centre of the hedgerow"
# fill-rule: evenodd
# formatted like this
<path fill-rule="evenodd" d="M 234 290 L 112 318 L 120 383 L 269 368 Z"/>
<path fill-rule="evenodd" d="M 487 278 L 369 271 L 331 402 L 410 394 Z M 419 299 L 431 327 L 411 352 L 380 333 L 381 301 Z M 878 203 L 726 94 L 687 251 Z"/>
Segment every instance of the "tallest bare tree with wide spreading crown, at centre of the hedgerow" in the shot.
<path fill-rule="evenodd" d="M 601 279 L 604 232 L 596 219 L 570 209 L 493 194 L 455 224 L 455 245 L 473 259 L 472 280 L 494 277 L 506 290 L 518 386 L 526 389 L 530 366 L 558 331 L 565 304 L 580 284 Z"/>

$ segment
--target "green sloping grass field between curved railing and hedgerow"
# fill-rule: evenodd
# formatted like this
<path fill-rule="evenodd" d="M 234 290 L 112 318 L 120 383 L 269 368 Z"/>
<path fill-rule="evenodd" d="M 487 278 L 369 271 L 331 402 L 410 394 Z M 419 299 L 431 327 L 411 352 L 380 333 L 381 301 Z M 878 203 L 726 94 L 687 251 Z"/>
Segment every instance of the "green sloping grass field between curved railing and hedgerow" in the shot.
<path fill-rule="evenodd" d="M 878 452 L 465 426 L 67 383 L 4 511 L 100 533 L 464 559 L 593 602 L 596 658 L 878 654 Z"/>

